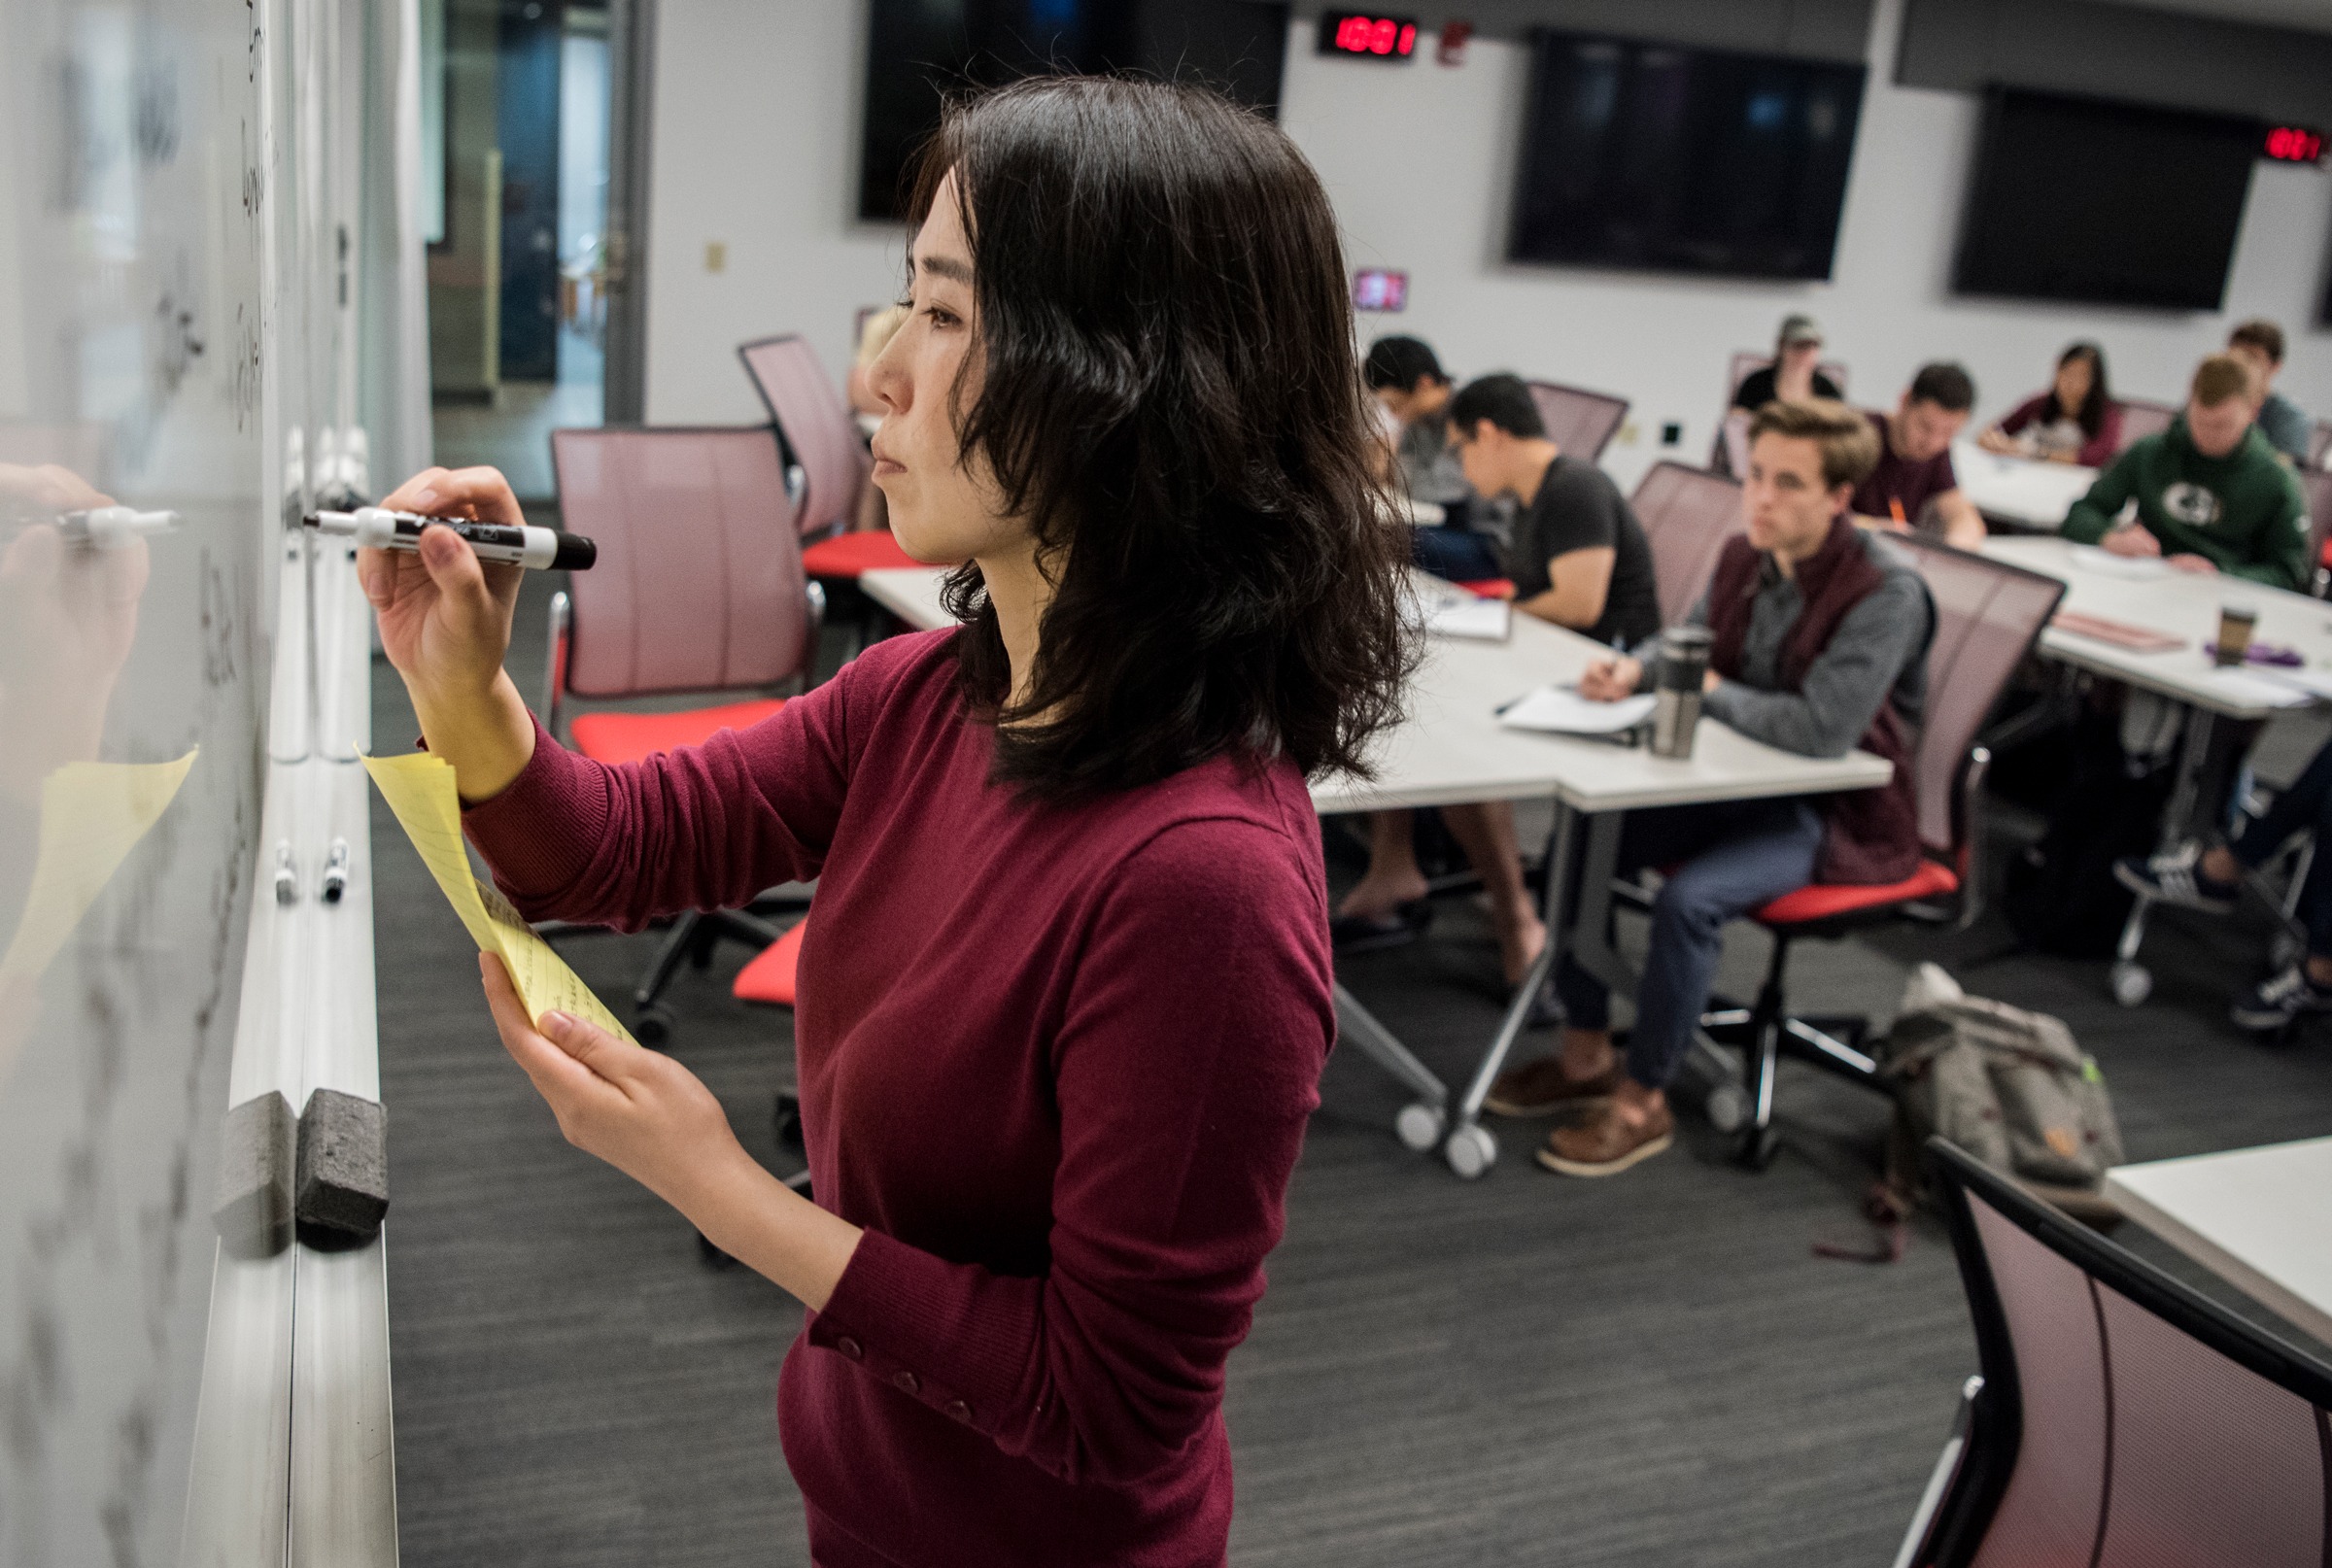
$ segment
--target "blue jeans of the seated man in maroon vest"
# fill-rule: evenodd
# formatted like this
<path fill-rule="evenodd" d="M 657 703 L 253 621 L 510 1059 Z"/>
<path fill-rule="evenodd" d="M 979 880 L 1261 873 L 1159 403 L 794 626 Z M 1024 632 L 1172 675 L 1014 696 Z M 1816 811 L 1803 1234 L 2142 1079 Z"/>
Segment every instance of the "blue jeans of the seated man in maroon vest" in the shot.
<path fill-rule="evenodd" d="M 1630 812 L 1618 838 L 1618 875 L 1674 866 L 1651 901 L 1651 952 L 1635 992 L 1628 1076 L 1663 1090 L 1684 1066 L 1716 978 L 1726 926 L 1814 880 L 1821 812 L 1807 800 L 1721 800 Z M 1579 889 L 1567 910 L 1576 910 Z M 1574 1029 L 1609 1029 L 1611 994 L 1569 954 L 1555 994 Z"/>

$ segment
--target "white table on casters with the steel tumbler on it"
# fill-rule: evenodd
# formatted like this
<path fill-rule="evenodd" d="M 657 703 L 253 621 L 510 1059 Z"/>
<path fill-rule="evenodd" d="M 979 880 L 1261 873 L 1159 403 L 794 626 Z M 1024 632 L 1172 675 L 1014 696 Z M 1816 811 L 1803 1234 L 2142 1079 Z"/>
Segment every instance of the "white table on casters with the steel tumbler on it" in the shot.
<path fill-rule="evenodd" d="M 868 572 L 858 581 L 877 604 L 907 625 L 928 630 L 949 625 L 937 593 L 942 576 L 935 569 Z M 1441 588 L 1427 586 L 1425 590 L 1439 593 Z M 1555 800 L 1553 863 L 1546 875 L 1546 950 L 1516 987 L 1497 1034 L 1455 1104 L 1451 1104 L 1448 1085 L 1441 1078 L 1376 1022 L 1343 985 L 1336 987 L 1336 1013 L 1343 1020 L 1346 1038 L 1418 1094 L 1418 1101 L 1406 1106 L 1395 1122 L 1402 1141 L 1418 1153 L 1439 1146 L 1460 1176 L 1481 1176 L 1497 1160 L 1497 1141 L 1488 1127 L 1481 1127 L 1481 1101 L 1562 952 L 1572 952 L 1607 985 L 1632 985 L 1632 975 L 1625 973 L 1604 938 L 1611 868 L 1625 812 L 1875 789 L 1894 777 L 1887 761 L 1866 751 L 1840 758 L 1793 756 L 1737 735 L 1714 719 L 1700 723 L 1693 756 L 1686 761 L 1651 756 L 1642 747 L 1534 735 L 1497 723 L 1492 709 L 1502 702 L 1546 681 L 1572 681 L 1590 658 L 1602 653 L 1607 649 L 1579 632 L 1520 614 L 1513 616 L 1506 642 L 1434 637 L 1409 688 L 1406 719 L 1381 735 L 1371 749 L 1369 761 L 1376 777 L 1334 775 L 1311 786 L 1320 814 L 1541 796 Z M 1576 917 L 1565 926 L 1560 922 L 1562 889 L 1569 882 L 1572 842 L 1579 838 L 1574 824 L 1581 817 L 1588 819 L 1581 898 Z"/>

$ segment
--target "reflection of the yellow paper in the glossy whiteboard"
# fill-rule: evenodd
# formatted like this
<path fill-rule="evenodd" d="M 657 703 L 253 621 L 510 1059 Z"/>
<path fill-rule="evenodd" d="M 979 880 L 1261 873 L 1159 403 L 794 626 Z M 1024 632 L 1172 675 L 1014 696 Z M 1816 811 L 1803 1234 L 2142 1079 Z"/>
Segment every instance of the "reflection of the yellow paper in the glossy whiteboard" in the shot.
<path fill-rule="evenodd" d="M 0 957 L 0 994 L 49 968 L 121 861 L 170 810 L 198 751 L 175 763 L 65 763 L 40 782 L 40 849 Z"/>

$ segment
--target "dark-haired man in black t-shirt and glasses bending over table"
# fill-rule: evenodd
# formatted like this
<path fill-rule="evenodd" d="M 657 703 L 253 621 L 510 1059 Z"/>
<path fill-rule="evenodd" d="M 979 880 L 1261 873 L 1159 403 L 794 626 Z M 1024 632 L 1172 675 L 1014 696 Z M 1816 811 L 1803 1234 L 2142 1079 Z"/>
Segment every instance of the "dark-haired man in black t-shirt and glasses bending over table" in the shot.
<path fill-rule="evenodd" d="M 1448 425 L 1467 483 L 1520 502 L 1506 548 L 1516 609 L 1630 649 L 1660 630 L 1644 527 L 1609 474 L 1546 439 L 1520 378 L 1469 380 Z"/>

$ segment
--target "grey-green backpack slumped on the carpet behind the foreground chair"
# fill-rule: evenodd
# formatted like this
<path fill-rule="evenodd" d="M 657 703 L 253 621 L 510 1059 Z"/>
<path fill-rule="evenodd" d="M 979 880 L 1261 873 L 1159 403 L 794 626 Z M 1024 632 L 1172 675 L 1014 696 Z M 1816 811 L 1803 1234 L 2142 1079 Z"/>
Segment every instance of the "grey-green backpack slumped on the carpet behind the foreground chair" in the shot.
<path fill-rule="evenodd" d="M 1880 1043 L 1880 1076 L 1894 1090 L 1887 1174 L 1863 1204 L 1880 1248 L 1819 1244 L 1826 1258 L 1894 1262 L 1903 1223 L 1926 1199 L 1919 1150 L 1943 1134 L 1994 1171 L 2089 1225 L 2120 1218 L 2099 1192 L 2122 1162 L 2106 1078 L 2073 1031 L 2045 1013 L 1968 996 L 1940 966 L 1922 964 Z"/>

